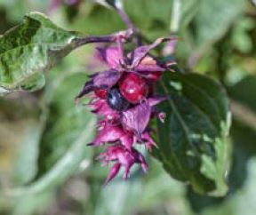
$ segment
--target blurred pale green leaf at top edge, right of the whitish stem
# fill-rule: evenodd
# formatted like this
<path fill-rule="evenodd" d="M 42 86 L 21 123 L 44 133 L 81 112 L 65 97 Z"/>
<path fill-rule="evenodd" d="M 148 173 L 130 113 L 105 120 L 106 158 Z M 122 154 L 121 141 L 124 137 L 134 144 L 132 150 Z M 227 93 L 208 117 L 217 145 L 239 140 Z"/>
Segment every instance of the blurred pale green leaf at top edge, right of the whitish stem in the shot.
<path fill-rule="evenodd" d="M 200 1 L 195 17 L 196 50 L 203 52 L 224 36 L 244 8 L 244 0 Z"/>

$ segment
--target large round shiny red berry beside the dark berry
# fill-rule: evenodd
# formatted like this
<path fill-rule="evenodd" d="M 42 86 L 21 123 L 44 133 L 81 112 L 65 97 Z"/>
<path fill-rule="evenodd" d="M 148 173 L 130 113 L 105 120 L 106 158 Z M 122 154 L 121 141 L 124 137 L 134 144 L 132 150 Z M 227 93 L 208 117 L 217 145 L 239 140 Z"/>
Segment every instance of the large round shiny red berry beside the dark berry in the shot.
<path fill-rule="evenodd" d="M 148 96 L 148 84 L 143 77 L 135 74 L 124 76 L 119 84 L 120 92 L 126 100 L 137 104 Z"/>

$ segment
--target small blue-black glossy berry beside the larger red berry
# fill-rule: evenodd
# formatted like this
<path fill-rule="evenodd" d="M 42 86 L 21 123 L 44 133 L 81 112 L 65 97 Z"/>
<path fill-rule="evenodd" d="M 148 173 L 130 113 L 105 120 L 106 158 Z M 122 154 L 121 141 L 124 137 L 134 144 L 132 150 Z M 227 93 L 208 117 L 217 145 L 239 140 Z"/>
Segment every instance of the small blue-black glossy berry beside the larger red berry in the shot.
<path fill-rule="evenodd" d="M 130 106 L 129 102 L 124 99 L 117 88 L 108 90 L 107 102 L 110 108 L 117 111 L 124 111 Z"/>

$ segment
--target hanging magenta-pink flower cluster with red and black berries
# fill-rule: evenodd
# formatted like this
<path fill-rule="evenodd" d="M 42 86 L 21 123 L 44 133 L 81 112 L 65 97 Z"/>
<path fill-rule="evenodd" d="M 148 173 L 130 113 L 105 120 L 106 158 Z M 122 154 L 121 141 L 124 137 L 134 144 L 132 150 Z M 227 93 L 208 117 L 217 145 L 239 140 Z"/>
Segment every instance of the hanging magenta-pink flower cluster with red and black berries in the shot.
<path fill-rule="evenodd" d="M 119 34 L 116 45 L 97 49 L 108 70 L 93 74 L 76 98 L 90 93 L 92 99 L 88 105 L 92 113 L 100 116 L 97 137 L 89 145 L 106 146 L 100 161 L 104 165 L 114 163 L 105 184 L 116 177 L 122 166 L 124 179 L 129 177 L 134 163 L 140 163 L 143 171 L 148 170 L 144 156 L 134 146 L 144 145 L 148 150 L 156 146 L 148 123 L 155 116 L 164 122 L 164 113 L 157 112 L 156 105 L 165 98 L 156 95 L 155 85 L 168 65 L 148 52 L 170 38 L 159 38 L 128 54 L 124 53 L 124 39 Z"/>

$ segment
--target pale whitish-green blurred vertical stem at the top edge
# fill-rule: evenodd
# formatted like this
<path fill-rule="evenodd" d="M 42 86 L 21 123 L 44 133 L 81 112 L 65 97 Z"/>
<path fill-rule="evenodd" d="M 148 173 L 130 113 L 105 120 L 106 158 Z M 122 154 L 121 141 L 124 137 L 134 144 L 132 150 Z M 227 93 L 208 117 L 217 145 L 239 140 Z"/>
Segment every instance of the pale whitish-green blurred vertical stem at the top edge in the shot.
<path fill-rule="evenodd" d="M 173 0 L 172 4 L 172 17 L 170 31 L 171 34 L 177 34 L 180 29 L 180 17 L 181 17 L 181 1 Z"/>

